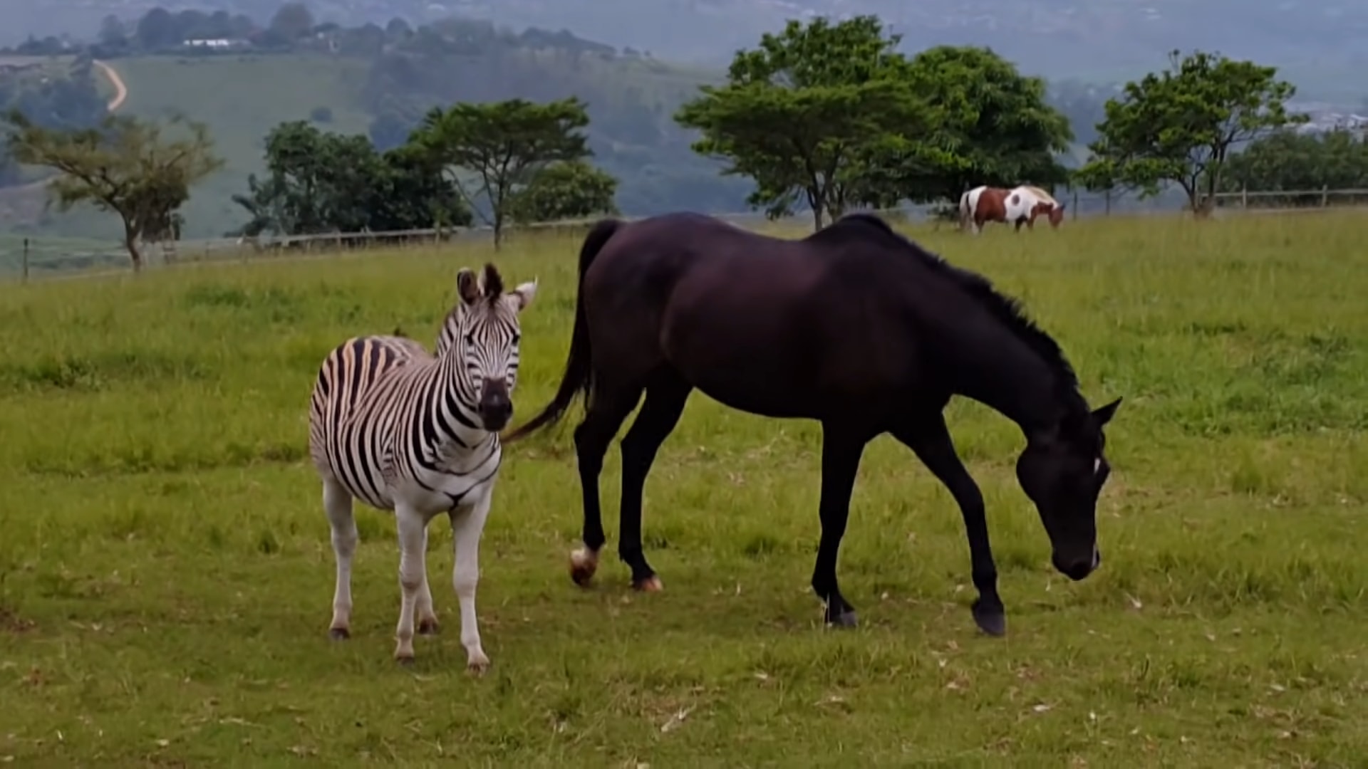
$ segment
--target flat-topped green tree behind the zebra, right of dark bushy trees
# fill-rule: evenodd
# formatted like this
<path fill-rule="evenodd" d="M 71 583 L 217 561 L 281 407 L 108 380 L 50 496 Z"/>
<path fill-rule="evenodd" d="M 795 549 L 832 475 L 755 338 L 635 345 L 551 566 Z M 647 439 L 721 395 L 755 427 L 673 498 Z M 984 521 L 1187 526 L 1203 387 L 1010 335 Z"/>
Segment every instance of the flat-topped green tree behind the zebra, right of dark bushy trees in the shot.
<path fill-rule="evenodd" d="M 494 229 L 499 248 L 509 204 L 543 167 L 588 157 L 581 129 L 590 118 L 577 97 L 536 104 L 510 99 L 487 104 L 453 104 L 431 109 L 415 131 L 415 141 L 451 174 L 465 171 L 473 182 L 456 177 L 471 208 L 483 200 L 480 218 Z"/>

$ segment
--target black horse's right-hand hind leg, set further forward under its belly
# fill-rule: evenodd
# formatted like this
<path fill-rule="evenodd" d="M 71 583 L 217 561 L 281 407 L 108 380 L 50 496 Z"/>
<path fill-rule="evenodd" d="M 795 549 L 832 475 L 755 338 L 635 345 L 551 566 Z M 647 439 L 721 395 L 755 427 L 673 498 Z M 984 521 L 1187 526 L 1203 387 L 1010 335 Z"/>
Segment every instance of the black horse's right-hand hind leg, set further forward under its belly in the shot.
<path fill-rule="evenodd" d="M 646 386 L 646 404 L 632 427 L 622 436 L 622 499 L 618 523 L 617 553 L 632 569 L 632 587 L 661 590 L 661 580 L 646 562 L 642 550 L 642 493 L 651 472 L 655 453 L 674 430 L 684 413 L 684 404 L 694 387 L 683 376 L 662 369 Z"/>

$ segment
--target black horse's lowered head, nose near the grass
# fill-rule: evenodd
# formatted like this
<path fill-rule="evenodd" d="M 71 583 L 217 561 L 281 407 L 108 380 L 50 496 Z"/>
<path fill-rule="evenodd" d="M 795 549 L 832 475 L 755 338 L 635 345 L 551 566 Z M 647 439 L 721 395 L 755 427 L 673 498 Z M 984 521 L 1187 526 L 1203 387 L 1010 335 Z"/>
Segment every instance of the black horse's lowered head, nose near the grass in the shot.
<path fill-rule="evenodd" d="M 1031 435 L 1016 458 L 1016 480 L 1049 535 L 1051 561 L 1068 579 L 1086 577 L 1103 560 L 1097 495 L 1111 473 L 1103 427 L 1119 405 L 1120 398 L 1096 410 L 1079 406 L 1055 428 Z"/>

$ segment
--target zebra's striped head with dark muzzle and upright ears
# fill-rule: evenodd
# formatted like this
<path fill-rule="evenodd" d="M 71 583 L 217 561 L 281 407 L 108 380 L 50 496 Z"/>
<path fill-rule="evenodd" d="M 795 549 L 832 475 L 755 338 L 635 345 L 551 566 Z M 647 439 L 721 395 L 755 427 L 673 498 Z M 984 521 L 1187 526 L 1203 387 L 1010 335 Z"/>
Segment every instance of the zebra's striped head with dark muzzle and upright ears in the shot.
<path fill-rule="evenodd" d="M 532 304 L 536 281 L 505 293 L 499 271 L 486 264 L 483 279 L 471 268 L 457 272 L 456 290 L 461 300 L 442 326 L 438 354 L 460 356 L 458 387 L 475 404 L 484 430 L 498 432 L 513 417 L 518 313 Z"/>

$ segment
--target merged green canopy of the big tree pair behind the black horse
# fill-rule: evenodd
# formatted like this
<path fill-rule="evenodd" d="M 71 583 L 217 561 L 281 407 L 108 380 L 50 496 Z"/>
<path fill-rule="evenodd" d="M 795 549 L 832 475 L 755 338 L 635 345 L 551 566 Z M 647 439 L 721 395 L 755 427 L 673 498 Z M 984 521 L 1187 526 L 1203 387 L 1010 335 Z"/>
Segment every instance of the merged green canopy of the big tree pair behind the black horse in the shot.
<path fill-rule="evenodd" d="M 821 227 L 851 205 L 953 200 L 977 183 L 1052 186 L 1073 141 L 1045 83 L 985 48 L 907 59 L 876 16 L 789 22 L 737 52 L 725 86 L 705 86 L 676 119 L 700 153 L 750 177 L 770 216 L 802 198 Z"/>

